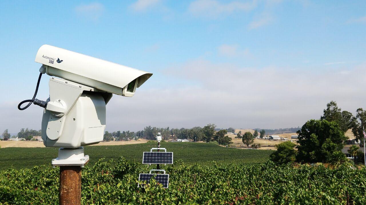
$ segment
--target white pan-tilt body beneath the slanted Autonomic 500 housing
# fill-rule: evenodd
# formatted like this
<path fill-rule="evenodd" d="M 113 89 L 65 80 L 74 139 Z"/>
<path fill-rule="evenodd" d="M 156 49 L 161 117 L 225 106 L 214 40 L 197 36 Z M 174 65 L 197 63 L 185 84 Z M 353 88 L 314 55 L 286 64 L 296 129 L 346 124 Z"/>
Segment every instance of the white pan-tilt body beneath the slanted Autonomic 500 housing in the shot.
<path fill-rule="evenodd" d="M 105 105 L 111 93 L 57 78 L 49 80 L 49 89 L 42 118 L 42 139 L 46 147 L 73 148 L 103 140 Z M 60 102 L 62 109 L 51 102 Z"/>

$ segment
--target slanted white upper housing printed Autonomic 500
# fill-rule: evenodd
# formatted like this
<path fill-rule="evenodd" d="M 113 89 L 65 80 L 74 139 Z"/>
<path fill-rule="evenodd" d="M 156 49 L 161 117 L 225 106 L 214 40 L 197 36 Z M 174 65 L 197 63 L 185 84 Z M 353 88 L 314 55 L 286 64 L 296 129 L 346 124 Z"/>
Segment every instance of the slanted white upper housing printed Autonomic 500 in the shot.
<path fill-rule="evenodd" d="M 126 97 L 132 97 L 136 88 L 152 76 L 146 71 L 50 45 L 40 47 L 35 61 L 42 63 L 50 76 Z"/>

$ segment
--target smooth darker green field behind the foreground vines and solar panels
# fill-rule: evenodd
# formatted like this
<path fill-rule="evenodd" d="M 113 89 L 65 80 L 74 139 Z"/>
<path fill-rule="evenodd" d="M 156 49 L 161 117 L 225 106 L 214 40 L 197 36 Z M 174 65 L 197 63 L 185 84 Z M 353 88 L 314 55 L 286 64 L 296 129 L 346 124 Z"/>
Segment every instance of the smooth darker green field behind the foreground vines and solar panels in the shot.
<path fill-rule="evenodd" d="M 221 139 L 220 139 L 221 141 Z M 213 141 L 216 142 L 216 141 Z M 217 143 L 217 142 L 216 142 Z M 111 145 L 111 146 L 85 146 L 85 154 L 90 156 L 90 163 L 98 159 L 117 160 L 123 156 L 128 160 L 141 163 L 142 153 L 156 147 L 153 140 L 143 144 Z M 174 159 L 182 159 L 184 163 L 211 164 L 219 163 L 244 163 L 258 164 L 268 160 L 272 150 L 243 150 L 220 147 L 210 143 L 192 142 L 161 142 L 161 147 L 174 152 Z M 17 157 L 14 157 L 16 153 Z M 14 167 L 16 169 L 39 165 L 50 165 L 51 159 L 56 158 L 57 147 L 6 147 L 0 149 L 0 170 Z"/>

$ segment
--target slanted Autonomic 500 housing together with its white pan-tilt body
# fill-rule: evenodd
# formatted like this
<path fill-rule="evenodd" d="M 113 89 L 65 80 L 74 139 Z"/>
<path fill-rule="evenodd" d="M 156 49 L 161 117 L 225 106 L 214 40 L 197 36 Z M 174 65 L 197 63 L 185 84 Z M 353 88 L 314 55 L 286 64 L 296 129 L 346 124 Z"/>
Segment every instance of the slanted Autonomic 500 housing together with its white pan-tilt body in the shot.
<path fill-rule="evenodd" d="M 77 148 L 103 140 L 105 106 L 112 94 L 132 97 L 152 76 L 142 70 L 43 45 L 36 62 L 47 73 L 50 96 L 41 101 L 46 147 Z M 35 100 L 39 102 L 39 100 Z M 36 103 L 35 103 L 36 104 Z"/>

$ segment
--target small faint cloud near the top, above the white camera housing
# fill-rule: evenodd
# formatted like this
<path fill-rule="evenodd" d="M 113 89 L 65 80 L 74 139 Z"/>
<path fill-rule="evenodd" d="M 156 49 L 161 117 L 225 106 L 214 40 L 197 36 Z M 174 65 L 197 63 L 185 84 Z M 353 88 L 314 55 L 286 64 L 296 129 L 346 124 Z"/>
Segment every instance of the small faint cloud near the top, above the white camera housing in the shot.
<path fill-rule="evenodd" d="M 75 12 L 78 15 L 94 21 L 98 20 L 102 16 L 104 10 L 104 5 L 100 3 L 84 4 L 75 8 Z"/>

